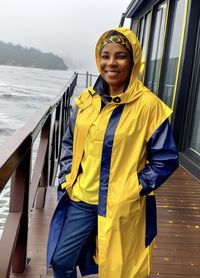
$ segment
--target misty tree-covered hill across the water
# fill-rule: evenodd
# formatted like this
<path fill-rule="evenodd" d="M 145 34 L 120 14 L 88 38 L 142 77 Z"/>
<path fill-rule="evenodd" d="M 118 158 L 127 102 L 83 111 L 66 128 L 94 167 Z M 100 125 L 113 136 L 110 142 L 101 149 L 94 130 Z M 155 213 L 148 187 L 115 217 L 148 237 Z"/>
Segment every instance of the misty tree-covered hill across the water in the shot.
<path fill-rule="evenodd" d="M 33 47 L 0 41 L 0 64 L 53 70 L 67 70 L 62 58 L 53 53 L 43 53 Z"/>

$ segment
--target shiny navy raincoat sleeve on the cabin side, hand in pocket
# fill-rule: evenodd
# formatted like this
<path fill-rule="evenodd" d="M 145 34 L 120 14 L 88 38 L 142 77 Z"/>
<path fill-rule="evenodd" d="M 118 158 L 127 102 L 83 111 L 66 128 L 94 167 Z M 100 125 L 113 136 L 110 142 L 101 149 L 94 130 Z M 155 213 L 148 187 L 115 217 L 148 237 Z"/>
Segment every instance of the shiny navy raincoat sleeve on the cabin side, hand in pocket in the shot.
<path fill-rule="evenodd" d="M 147 143 L 148 164 L 138 173 L 143 189 L 140 195 L 148 195 L 157 189 L 178 168 L 178 151 L 171 126 L 165 120 Z"/>

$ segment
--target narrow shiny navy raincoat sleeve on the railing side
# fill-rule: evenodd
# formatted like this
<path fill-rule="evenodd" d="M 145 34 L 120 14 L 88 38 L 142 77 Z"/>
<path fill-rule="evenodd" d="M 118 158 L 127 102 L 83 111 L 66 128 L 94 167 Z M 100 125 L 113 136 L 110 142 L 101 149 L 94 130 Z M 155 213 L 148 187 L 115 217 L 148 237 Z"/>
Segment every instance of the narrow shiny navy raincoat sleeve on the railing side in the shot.
<path fill-rule="evenodd" d="M 76 122 L 76 116 L 78 113 L 78 107 L 72 113 L 67 130 L 63 136 L 62 149 L 60 157 L 60 173 L 58 175 L 58 197 L 63 190 L 61 189 L 61 184 L 65 182 L 65 177 L 71 171 L 72 166 L 72 154 L 73 154 L 73 137 L 74 137 L 74 126 Z"/>

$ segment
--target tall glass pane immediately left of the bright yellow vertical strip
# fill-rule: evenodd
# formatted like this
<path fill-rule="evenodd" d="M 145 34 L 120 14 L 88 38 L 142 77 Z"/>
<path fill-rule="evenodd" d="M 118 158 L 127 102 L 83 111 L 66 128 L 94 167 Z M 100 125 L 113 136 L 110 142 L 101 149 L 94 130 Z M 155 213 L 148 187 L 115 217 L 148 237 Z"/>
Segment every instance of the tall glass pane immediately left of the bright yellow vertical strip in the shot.
<path fill-rule="evenodd" d="M 169 106 L 172 106 L 173 101 L 174 85 L 176 80 L 176 72 L 181 45 L 184 7 L 185 0 L 178 0 L 174 13 L 174 24 L 171 29 L 171 45 L 166 63 L 165 79 L 161 89 L 161 93 L 163 92 L 163 100 Z"/>

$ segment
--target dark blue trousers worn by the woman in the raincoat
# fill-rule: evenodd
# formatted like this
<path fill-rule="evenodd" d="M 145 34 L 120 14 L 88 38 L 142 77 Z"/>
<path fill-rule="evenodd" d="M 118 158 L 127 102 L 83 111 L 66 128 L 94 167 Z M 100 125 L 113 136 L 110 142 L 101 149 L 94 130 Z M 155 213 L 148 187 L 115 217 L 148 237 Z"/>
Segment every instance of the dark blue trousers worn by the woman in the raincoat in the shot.
<path fill-rule="evenodd" d="M 97 206 L 70 201 L 65 222 L 51 260 L 54 278 L 76 278 L 76 265 L 85 243 L 97 229 Z"/>

